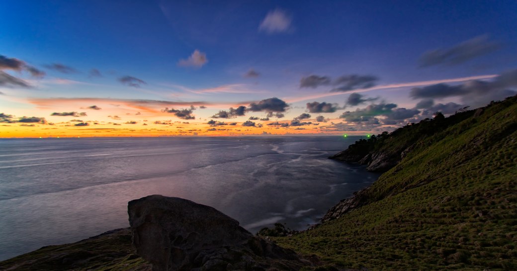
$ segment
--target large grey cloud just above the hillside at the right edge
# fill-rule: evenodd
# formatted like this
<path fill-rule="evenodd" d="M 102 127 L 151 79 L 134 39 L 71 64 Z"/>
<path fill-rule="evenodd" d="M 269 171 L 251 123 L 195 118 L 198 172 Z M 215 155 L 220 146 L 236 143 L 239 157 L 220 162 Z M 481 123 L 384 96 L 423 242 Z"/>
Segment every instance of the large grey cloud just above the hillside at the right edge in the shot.
<path fill-rule="evenodd" d="M 480 107 L 491 100 L 503 100 L 517 94 L 517 69 L 501 73 L 491 81 L 471 80 L 460 85 L 435 84 L 411 89 L 413 99 L 461 97 L 463 103 Z"/>

